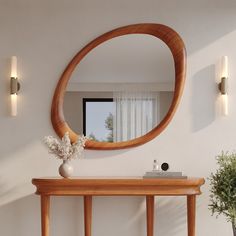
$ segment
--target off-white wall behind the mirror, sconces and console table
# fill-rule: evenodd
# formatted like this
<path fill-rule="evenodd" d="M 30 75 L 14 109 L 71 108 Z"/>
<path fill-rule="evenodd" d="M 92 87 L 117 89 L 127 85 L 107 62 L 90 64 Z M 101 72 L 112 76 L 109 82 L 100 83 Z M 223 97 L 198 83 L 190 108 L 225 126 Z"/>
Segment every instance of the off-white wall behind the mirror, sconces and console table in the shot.
<path fill-rule="evenodd" d="M 50 106 L 71 57 L 118 26 L 158 22 L 182 35 L 188 51 L 185 90 L 168 128 L 153 141 L 123 151 L 86 151 L 77 175 L 143 175 L 154 158 L 189 176 L 209 176 L 214 156 L 235 149 L 236 2 L 234 0 L 0 0 L 0 235 L 39 236 L 39 198 L 32 177 L 57 174 L 42 137 L 54 134 Z M 18 56 L 19 115 L 9 117 L 9 57 Z M 216 70 L 229 56 L 230 114 L 216 114 Z M 197 203 L 197 235 L 230 236 L 230 224 L 208 211 L 208 182 Z M 96 198 L 96 236 L 145 235 L 143 198 Z M 157 199 L 156 235 L 186 235 L 185 199 Z M 52 201 L 52 235 L 82 235 L 80 198 Z"/>

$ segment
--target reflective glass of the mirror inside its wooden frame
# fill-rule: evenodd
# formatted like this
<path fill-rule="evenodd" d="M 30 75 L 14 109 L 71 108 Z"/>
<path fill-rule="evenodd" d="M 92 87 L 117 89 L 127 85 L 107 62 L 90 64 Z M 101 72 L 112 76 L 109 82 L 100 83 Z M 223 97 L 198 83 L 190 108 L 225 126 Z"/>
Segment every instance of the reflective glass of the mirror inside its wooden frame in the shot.
<path fill-rule="evenodd" d="M 174 60 L 165 43 L 146 34 L 119 36 L 94 48 L 73 71 L 65 119 L 95 141 L 132 140 L 163 120 L 174 84 Z"/>

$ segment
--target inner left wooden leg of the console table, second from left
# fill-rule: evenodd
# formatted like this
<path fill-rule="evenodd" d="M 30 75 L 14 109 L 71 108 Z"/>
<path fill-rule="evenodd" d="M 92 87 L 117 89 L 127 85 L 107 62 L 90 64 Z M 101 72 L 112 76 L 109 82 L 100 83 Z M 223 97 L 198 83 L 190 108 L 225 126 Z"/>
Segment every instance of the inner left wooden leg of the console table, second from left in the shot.
<path fill-rule="evenodd" d="M 92 196 L 84 196 L 84 233 L 92 235 Z"/>

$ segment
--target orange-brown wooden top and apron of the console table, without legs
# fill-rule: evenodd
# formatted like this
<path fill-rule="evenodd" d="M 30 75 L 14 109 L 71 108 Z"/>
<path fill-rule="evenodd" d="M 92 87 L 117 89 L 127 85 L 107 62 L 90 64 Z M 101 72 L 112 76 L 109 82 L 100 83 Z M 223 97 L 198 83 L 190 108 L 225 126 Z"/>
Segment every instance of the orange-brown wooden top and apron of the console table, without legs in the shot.
<path fill-rule="evenodd" d="M 37 194 L 70 196 L 183 196 L 198 195 L 203 178 L 142 179 L 126 178 L 40 178 L 33 179 Z"/>

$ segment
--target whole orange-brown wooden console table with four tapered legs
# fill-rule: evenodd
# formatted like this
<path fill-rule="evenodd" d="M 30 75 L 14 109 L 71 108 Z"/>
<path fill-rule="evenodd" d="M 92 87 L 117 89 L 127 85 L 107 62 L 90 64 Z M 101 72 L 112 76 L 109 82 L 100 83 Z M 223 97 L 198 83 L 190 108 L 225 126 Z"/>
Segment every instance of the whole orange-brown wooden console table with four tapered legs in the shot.
<path fill-rule="evenodd" d="M 133 177 L 39 178 L 32 183 L 41 196 L 42 236 L 49 236 L 50 196 L 84 197 L 85 236 L 91 236 L 93 196 L 145 196 L 147 236 L 154 235 L 154 197 L 187 196 L 188 236 L 195 236 L 196 195 L 201 194 L 203 178 L 143 179 Z"/>

